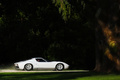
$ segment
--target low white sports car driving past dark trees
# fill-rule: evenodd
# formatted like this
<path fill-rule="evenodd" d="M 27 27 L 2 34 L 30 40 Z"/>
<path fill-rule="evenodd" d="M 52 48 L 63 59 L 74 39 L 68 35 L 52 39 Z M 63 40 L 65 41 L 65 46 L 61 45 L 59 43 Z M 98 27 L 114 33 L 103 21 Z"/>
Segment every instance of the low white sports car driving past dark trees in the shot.
<path fill-rule="evenodd" d="M 14 63 L 16 69 L 33 70 L 33 69 L 53 69 L 61 71 L 68 69 L 69 65 L 61 61 L 47 61 L 44 58 L 37 57 L 25 61 Z"/>

